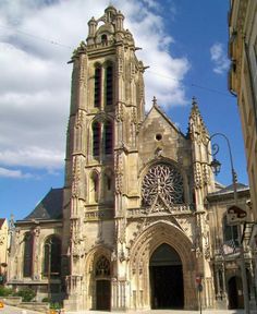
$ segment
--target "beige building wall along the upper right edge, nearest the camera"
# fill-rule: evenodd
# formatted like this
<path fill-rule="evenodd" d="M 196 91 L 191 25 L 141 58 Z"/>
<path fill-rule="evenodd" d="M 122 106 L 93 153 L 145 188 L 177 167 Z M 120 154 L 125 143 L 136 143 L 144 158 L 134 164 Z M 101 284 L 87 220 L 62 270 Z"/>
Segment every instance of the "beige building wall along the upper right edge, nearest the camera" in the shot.
<path fill-rule="evenodd" d="M 229 87 L 237 96 L 252 206 L 257 220 L 257 2 L 232 0 L 229 16 Z"/>

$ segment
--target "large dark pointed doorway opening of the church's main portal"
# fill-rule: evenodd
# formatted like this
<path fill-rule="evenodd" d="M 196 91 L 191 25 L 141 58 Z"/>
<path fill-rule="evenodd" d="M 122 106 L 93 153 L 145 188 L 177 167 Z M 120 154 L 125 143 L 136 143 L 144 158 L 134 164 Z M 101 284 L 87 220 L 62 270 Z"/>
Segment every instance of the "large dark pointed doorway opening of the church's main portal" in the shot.
<path fill-rule="evenodd" d="M 183 309 L 184 285 L 181 257 L 167 243 L 158 246 L 149 262 L 151 309 Z"/>

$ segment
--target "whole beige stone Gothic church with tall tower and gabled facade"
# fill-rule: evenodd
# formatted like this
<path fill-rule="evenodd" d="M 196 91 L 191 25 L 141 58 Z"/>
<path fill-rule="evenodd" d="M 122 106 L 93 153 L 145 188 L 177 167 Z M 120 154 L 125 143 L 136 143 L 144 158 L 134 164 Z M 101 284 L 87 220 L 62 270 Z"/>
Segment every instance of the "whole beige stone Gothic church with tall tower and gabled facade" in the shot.
<path fill-rule="evenodd" d="M 187 134 L 155 97 L 145 113 L 146 68 L 123 21 L 108 7 L 73 53 L 64 186 L 11 226 L 8 285 L 73 311 L 241 307 L 236 252 L 220 250 L 238 241 L 233 189 L 215 181 L 195 99 Z M 237 195 L 249 212 L 248 188 Z"/>

